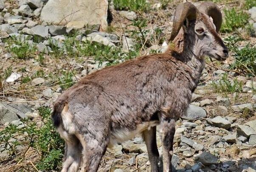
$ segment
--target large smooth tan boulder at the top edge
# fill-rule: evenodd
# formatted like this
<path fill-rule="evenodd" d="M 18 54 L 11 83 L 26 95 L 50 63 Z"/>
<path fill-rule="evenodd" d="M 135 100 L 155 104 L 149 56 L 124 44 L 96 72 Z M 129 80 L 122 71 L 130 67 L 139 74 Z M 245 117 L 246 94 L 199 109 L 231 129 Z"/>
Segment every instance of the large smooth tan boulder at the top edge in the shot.
<path fill-rule="evenodd" d="M 107 0 L 49 0 L 42 8 L 41 19 L 53 25 L 73 28 L 100 25 L 107 29 Z"/>

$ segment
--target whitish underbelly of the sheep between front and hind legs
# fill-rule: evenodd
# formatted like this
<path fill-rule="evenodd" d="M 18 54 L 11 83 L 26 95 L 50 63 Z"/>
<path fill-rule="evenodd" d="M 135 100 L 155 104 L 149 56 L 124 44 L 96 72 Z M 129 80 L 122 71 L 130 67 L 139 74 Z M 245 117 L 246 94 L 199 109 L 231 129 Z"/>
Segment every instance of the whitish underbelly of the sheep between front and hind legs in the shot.
<path fill-rule="evenodd" d="M 122 143 L 124 141 L 132 139 L 137 134 L 141 134 L 143 130 L 150 130 L 151 127 L 159 125 L 159 121 L 143 122 L 137 125 L 135 130 L 121 129 L 114 131 L 110 136 L 110 143 L 108 147 L 113 147 L 113 145 Z"/>

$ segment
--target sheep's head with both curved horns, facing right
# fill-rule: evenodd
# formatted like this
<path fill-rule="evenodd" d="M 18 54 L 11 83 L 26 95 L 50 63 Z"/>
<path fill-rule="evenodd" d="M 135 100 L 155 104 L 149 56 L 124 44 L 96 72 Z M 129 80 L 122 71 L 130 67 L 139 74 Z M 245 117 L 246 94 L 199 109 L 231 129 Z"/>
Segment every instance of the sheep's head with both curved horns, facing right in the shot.
<path fill-rule="evenodd" d="M 183 3 L 174 13 L 170 40 L 174 40 L 182 27 L 184 36 L 194 44 L 192 51 L 195 55 L 223 61 L 228 58 L 228 49 L 218 34 L 221 24 L 222 14 L 214 3 L 202 3 L 198 7 Z"/>

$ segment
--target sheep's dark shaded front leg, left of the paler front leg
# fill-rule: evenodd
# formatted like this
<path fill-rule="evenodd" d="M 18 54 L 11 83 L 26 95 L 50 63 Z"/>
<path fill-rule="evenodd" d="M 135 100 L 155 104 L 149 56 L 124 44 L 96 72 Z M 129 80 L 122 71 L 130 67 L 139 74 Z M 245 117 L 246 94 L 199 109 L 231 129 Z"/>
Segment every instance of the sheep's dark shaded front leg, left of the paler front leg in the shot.
<path fill-rule="evenodd" d="M 151 172 L 159 172 L 159 153 L 156 142 L 156 126 L 150 130 L 144 130 L 142 133 L 143 139 L 146 142 L 146 148 L 149 154 L 149 161 L 151 165 Z"/>

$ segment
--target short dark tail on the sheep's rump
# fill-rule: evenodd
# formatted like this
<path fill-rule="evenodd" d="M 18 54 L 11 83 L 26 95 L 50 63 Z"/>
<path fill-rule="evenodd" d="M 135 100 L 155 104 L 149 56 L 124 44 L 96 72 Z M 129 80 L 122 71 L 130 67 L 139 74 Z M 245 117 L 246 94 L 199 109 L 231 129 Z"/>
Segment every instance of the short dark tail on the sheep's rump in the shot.
<path fill-rule="evenodd" d="M 59 125 L 62 124 L 62 109 L 64 108 L 66 104 L 65 100 L 57 100 L 53 105 L 53 113 L 52 113 L 52 119 L 53 119 L 53 125 L 58 128 Z"/>

